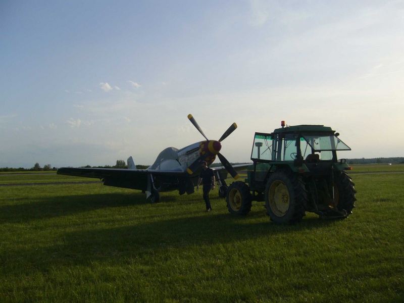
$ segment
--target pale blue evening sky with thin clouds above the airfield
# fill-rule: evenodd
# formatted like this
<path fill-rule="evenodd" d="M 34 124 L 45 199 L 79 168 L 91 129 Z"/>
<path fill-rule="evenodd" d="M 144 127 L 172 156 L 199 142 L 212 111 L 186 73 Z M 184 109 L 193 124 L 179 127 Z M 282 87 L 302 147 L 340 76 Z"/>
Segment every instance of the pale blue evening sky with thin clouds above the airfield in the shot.
<path fill-rule="evenodd" d="M 0 167 L 100 166 L 331 126 L 404 157 L 404 1 L 0 1 Z"/>

